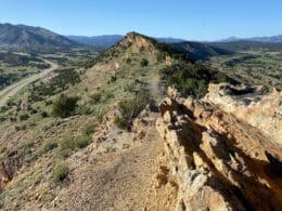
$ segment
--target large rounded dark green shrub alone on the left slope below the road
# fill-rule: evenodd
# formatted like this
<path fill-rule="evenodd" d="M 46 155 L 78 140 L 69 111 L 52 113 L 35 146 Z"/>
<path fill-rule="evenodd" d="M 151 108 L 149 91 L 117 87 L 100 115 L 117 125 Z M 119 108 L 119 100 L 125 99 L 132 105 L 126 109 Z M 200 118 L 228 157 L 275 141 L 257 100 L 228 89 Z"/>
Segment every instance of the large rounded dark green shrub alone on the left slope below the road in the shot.
<path fill-rule="evenodd" d="M 53 104 L 53 116 L 66 118 L 74 115 L 78 100 L 77 96 L 61 95 Z"/>

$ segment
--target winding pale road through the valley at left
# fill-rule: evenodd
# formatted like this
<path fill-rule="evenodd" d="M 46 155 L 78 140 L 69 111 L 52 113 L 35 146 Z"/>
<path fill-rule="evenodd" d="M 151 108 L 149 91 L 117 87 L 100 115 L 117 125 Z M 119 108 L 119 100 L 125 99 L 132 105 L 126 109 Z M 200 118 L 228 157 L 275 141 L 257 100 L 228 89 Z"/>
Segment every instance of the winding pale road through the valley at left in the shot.
<path fill-rule="evenodd" d="M 40 58 L 40 60 L 42 60 L 42 58 Z M 42 61 L 50 65 L 50 67 L 48 69 L 43 69 L 41 72 L 33 75 L 28 78 L 25 78 L 16 83 L 9 85 L 8 88 L 3 89 L 2 91 L 0 91 L 0 107 L 5 105 L 5 103 L 9 101 L 10 97 L 14 96 L 18 91 L 21 91 L 27 84 L 35 82 L 36 80 L 38 80 L 40 78 L 44 78 L 48 74 L 57 69 L 57 67 L 59 67 L 57 64 L 55 64 L 55 63 L 52 63 L 47 60 L 42 60 Z"/>

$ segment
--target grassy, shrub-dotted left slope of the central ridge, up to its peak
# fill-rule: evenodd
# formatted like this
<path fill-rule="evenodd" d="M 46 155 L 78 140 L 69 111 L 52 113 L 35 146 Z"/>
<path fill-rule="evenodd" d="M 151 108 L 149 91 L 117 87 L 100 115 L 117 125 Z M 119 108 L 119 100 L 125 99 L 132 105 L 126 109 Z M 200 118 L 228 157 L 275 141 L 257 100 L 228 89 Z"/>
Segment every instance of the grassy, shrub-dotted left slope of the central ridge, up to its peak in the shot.
<path fill-rule="evenodd" d="M 53 57 L 59 60 L 57 56 Z M 150 89 L 162 88 L 156 76 L 167 65 L 181 62 L 193 67 L 189 58 L 169 45 L 137 34 L 129 34 L 125 40 L 88 63 L 86 69 L 75 65 L 82 62 L 77 60 L 61 60 L 62 66 L 70 67 L 57 70 L 53 81 L 61 82 L 38 81 L 18 93 L 11 100 L 10 106 L 0 111 L 0 160 L 17 163 L 11 173 L 12 181 L 0 195 L 0 203 L 4 208 L 31 206 L 39 209 L 48 205 L 65 184 L 54 182 L 57 181 L 54 180 L 57 172 L 62 173 L 63 170 L 54 172 L 53 169 L 67 163 L 67 157 L 79 150 L 80 146 L 95 142 L 86 140 L 89 135 L 84 131 L 89 123 L 92 127 L 99 124 L 106 113 L 112 111 L 113 105 L 133 98 L 141 90 L 149 89 L 149 93 L 158 95 L 154 100 L 161 98 L 162 92 Z M 77 76 L 79 80 L 76 80 Z M 65 81 L 64 85 L 62 81 Z M 49 89 L 53 90 L 52 94 Z M 34 93 L 31 98 L 30 93 Z M 52 102 L 62 93 L 80 97 L 75 116 L 65 119 L 51 116 Z M 21 110 L 21 101 L 27 98 L 29 109 Z M 44 117 L 43 113 L 47 114 Z M 41 196 L 40 199 L 37 195 Z"/>

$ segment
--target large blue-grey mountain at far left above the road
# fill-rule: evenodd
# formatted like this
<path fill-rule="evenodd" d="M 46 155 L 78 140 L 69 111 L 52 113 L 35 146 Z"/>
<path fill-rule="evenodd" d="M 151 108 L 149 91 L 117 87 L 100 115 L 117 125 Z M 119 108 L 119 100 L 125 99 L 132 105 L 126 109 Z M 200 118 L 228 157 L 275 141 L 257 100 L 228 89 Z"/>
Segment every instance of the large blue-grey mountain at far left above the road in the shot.
<path fill-rule="evenodd" d="M 0 24 L 0 48 L 50 51 L 81 45 L 41 27 Z"/>

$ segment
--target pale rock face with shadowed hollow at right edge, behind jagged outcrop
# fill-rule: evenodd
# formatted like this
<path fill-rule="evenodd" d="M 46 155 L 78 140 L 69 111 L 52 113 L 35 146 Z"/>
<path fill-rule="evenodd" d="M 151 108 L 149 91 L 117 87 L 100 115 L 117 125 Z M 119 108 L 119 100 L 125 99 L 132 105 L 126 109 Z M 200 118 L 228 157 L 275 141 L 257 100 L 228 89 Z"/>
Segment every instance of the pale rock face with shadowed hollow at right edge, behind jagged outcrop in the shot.
<path fill-rule="evenodd" d="M 204 101 L 220 106 L 282 145 L 282 92 L 264 87 L 210 84 Z"/>

